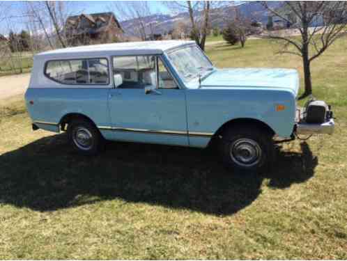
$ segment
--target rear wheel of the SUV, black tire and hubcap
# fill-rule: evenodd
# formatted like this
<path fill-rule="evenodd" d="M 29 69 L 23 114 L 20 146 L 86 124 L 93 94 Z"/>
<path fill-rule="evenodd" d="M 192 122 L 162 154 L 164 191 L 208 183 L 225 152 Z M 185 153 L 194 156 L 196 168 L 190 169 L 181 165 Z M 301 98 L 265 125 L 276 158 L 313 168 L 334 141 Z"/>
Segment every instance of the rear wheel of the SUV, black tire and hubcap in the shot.
<path fill-rule="evenodd" d="M 84 119 L 69 122 L 68 139 L 72 148 L 82 155 L 97 155 L 104 146 L 99 129 Z"/>

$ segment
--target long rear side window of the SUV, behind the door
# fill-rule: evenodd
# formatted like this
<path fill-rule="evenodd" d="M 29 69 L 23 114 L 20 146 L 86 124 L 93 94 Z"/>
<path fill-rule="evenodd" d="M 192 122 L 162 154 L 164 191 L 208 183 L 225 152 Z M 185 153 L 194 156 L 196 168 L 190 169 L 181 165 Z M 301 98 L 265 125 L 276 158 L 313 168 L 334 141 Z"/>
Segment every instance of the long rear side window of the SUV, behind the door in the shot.
<path fill-rule="evenodd" d="M 48 61 L 45 75 L 61 84 L 109 84 L 106 58 Z"/>

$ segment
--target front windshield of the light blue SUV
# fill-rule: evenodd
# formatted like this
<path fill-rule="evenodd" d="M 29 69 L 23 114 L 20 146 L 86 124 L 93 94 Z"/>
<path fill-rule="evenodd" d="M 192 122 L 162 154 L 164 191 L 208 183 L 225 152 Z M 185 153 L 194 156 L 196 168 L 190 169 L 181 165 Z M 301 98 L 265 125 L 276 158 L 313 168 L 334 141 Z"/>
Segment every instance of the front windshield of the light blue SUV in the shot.
<path fill-rule="evenodd" d="M 213 70 L 213 65 L 196 46 L 185 47 L 170 52 L 168 55 L 171 64 L 176 69 L 180 78 L 187 82 Z"/>

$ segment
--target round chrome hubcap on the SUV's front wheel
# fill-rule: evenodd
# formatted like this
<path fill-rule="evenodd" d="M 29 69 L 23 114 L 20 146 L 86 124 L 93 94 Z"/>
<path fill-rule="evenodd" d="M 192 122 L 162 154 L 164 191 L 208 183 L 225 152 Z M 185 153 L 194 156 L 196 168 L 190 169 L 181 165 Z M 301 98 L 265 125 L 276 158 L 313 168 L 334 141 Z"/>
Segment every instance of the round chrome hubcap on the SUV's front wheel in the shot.
<path fill-rule="evenodd" d="M 258 164 L 261 153 L 259 143 L 252 139 L 238 139 L 231 143 L 231 159 L 241 166 L 249 167 Z"/>

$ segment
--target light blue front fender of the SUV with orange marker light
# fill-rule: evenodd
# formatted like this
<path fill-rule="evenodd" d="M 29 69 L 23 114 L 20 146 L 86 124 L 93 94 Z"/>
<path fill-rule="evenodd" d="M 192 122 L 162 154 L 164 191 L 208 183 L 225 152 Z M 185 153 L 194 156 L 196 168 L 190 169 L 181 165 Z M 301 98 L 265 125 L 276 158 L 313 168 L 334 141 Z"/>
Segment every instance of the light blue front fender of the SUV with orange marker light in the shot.
<path fill-rule="evenodd" d="M 284 109 L 278 111 L 278 105 Z M 224 123 L 238 118 L 259 120 L 275 134 L 289 137 L 295 124 L 295 95 L 290 90 L 226 88 L 187 90 L 189 132 L 215 134 Z M 192 145 L 205 146 L 209 139 L 190 138 Z"/>

